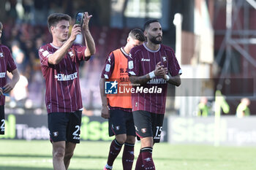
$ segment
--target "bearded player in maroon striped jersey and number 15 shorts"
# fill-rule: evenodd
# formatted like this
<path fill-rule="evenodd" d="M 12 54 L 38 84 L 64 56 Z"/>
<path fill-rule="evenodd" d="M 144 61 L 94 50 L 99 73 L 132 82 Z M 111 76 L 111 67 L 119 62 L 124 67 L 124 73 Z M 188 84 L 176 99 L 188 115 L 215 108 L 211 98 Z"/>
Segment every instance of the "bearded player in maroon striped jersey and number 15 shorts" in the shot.
<path fill-rule="evenodd" d="M 147 42 L 132 48 L 128 58 L 130 81 L 139 85 L 135 87 L 137 92 L 132 93 L 132 115 L 141 141 L 135 169 L 154 170 L 152 151 L 162 131 L 167 83 L 181 84 L 181 68 L 173 49 L 161 44 L 162 27 L 158 20 L 146 21 L 144 35 Z"/>

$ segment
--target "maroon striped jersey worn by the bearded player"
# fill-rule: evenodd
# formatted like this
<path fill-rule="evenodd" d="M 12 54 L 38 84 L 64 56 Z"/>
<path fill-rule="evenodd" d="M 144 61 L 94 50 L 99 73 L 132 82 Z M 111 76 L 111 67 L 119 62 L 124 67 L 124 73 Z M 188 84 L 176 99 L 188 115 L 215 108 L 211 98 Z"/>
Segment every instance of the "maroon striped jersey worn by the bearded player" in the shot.
<path fill-rule="evenodd" d="M 154 71 L 157 63 L 167 67 L 171 76 L 181 74 L 181 68 L 172 48 L 160 45 L 158 50 L 150 50 L 146 44 L 132 48 L 128 58 L 129 75 L 143 76 Z M 153 93 L 132 93 L 132 111 L 144 110 L 157 114 L 165 114 L 167 82 L 161 77 L 155 77 L 140 87 L 153 90 Z M 161 93 L 155 93 L 158 89 Z"/>

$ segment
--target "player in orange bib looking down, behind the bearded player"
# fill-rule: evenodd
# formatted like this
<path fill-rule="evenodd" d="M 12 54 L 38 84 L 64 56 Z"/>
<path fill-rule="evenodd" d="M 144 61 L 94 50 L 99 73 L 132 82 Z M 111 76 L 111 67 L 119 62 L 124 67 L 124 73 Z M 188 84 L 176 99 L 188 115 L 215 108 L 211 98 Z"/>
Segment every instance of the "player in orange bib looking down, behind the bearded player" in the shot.
<path fill-rule="evenodd" d="M 123 83 L 126 88 L 130 88 L 129 76 L 127 72 L 127 58 L 132 47 L 142 45 L 145 41 L 143 31 L 138 28 L 132 29 L 127 38 L 127 45 L 114 50 L 110 53 L 105 62 L 105 67 L 102 71 L 99 87 L 102 97 L 102 117 L 108 119 L 109 136 L 115 135 L 115 139 L 110 144 L 108 154 L 108 163 L 104 170 L 112 169 L 118 153 L 124 144 L 124 152 L 122 157 L 123 169 L 131 170 L 134 160 L 134 144 L 135 144 L 135 126 L 132 117 L 132 100 L 131 94 L 124 95 L 108 95 L 105 96 L 105 82 L 117 81 Z"/>

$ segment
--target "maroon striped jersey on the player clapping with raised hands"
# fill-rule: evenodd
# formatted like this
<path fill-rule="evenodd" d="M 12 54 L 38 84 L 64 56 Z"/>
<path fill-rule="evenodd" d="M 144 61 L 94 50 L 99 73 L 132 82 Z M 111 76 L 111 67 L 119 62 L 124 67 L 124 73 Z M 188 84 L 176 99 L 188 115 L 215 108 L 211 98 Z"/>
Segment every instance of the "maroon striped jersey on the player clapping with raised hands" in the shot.
<path fill-rule="evenodd" d="M 80 93 L 79 65 L 87 61 L 86 47 L 72 45 L 64 58 L 56 65 L 48 63 L 48 57 L 58 50 L 51 43 L 39 49 L 42 75 L 45 78 L 45 105 L 47 112 L 75 112 L 83 108 Z"/>

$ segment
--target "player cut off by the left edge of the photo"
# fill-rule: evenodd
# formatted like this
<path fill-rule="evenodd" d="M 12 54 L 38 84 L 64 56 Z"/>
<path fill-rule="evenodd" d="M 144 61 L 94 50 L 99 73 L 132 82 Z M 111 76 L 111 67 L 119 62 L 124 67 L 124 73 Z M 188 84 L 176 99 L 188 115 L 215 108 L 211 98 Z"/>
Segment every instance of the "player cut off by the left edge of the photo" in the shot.
<path fill-rule="evenodd" d="M 3 24 L 0 22 L 0 38 L 3 30 Z M 12 73 L 12 81 L 7 83 L 7 71 Z M 9 48 L 0 44 L 0 135 L 4 134 L 5 120 L 4 120 L 4 104 L 5 96 L 14 88 L 20 74 L 17 66 L 12 58 L 12 53 Z"/>

